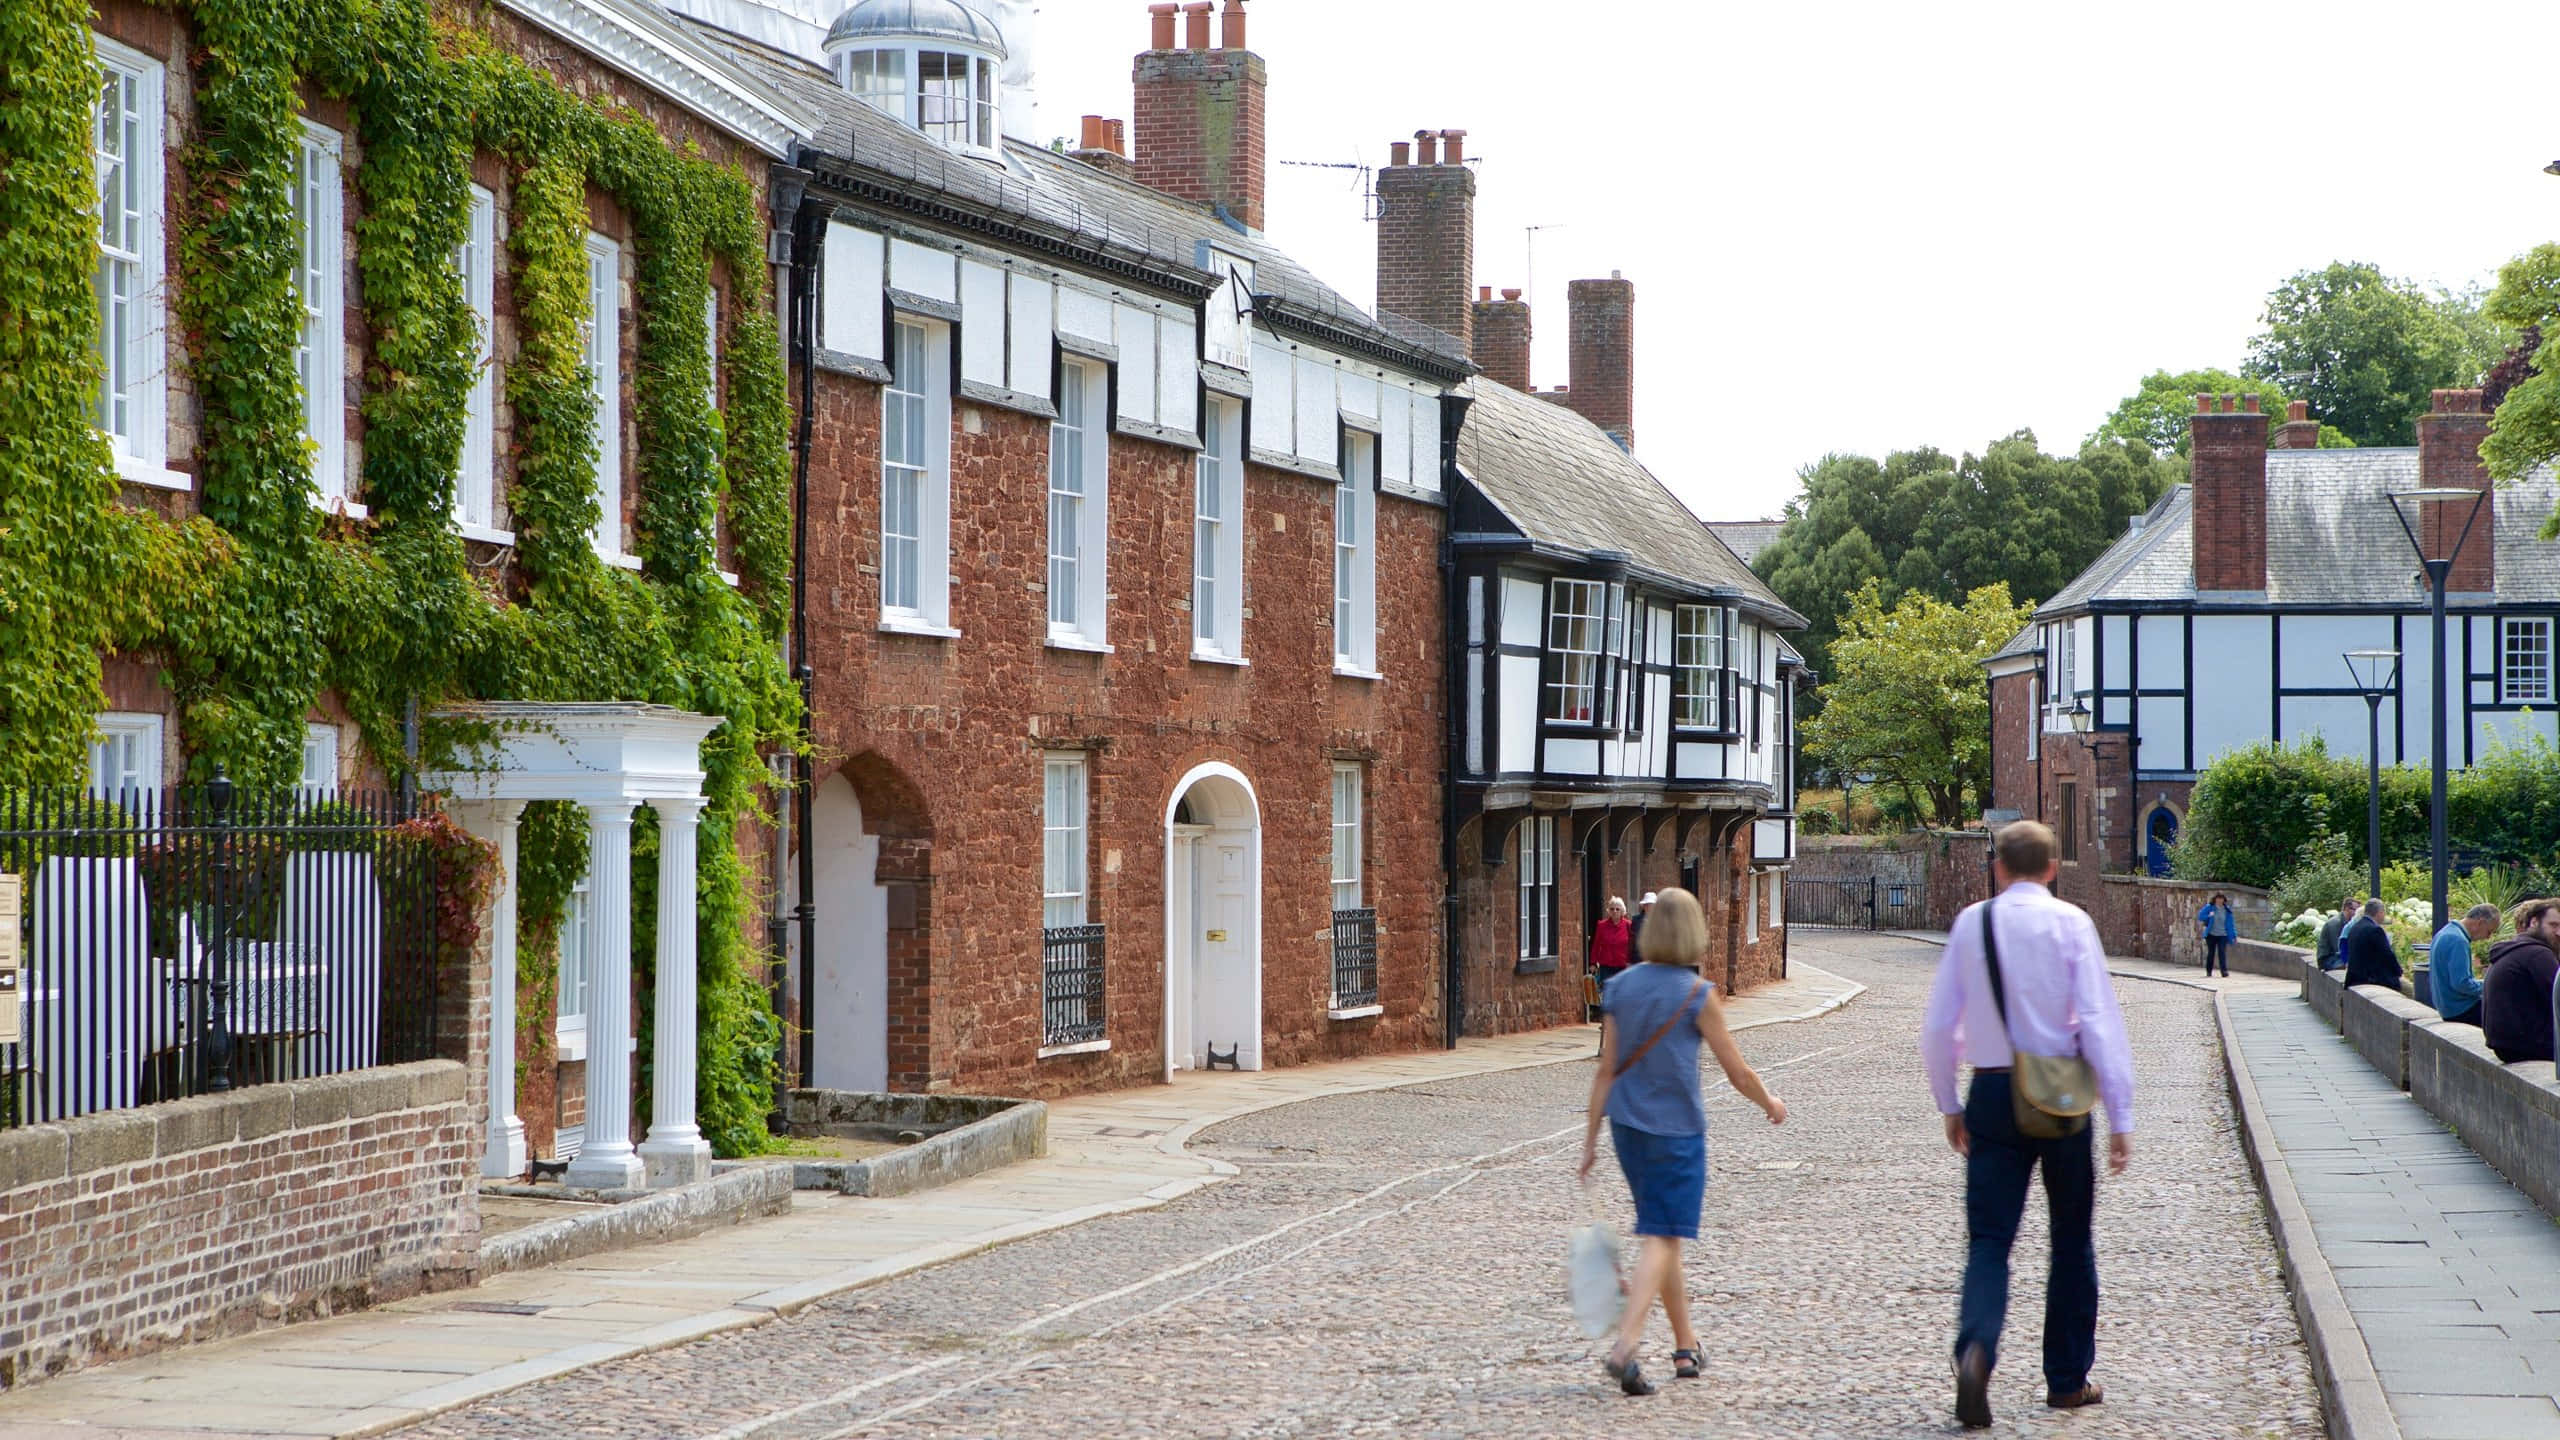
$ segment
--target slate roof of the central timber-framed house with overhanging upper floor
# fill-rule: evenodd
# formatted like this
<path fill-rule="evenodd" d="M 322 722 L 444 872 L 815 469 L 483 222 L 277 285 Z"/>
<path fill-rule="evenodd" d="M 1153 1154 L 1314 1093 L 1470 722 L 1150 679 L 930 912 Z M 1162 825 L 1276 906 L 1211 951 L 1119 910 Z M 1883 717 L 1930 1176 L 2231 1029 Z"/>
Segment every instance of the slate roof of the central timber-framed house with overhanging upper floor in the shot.
<path fill-rule="evenodd" d="M 1715 530 L 1597 425 L 1508 384 L 1475 377 L 1457 464 L 1510 525 L 1569 551 L 1623 551 L 1700 592 L 1731 594 L 1789 628 L 1787 607 Z"/>

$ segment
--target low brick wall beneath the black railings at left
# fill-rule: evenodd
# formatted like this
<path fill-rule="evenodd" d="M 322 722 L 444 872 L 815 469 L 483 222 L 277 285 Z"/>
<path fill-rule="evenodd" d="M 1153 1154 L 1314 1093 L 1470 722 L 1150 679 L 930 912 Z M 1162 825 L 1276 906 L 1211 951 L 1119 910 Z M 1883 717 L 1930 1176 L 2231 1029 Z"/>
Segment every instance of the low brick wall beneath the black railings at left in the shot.
<path fill-rule="evenodd" d="M 0 1130 L 0 1389 L 468 1284 L 463 1079 L 420 1061 Z"/>

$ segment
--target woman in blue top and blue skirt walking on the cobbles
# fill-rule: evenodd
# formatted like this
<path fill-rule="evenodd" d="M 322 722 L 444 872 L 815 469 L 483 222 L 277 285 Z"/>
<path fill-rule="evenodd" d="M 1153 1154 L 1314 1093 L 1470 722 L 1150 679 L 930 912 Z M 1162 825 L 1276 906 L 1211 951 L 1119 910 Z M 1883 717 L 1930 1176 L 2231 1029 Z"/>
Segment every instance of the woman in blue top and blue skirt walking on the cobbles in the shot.
<path fill-rule="evenodd" d="M 1787 1107 L 1733 1048 L 1715 986 L 1697 976 L 1708 956 L 1708 917 L 1697 897 L 1664 889 L 1636 951 L 1644 963 L 1628 966 L 1600 992 L 1600 1068 L 1592 1074 L 1582 1127 L 1582 1179 L 1592 1174 L 1600 1117 L 1608 1115 L 1618 1171 L 1636 1197 L 1644 1256 L 1626 1289 L 1618 1340 L 1600 1366 L 1626 1394 L 1654 1394 L 1636 1363 L 1636 1343 L 1644 1340 L 1656 1294 L 1672 1322 L 1672 1343 L 1679 1345 L 1672 1350 L 1672 1373 L 1690 1381 L 1700 1371 L 1690 1291 L 1679 1273 L 1679 1243 L 1697 1238 L 1697 1215 L 1708 1199 L 1708 1102 L 1697 1089 L 1697 1043 L 1708 1043 L 1743 1099 L 1769 1112 L 1769 1125 L 1782 1125 Z"/>

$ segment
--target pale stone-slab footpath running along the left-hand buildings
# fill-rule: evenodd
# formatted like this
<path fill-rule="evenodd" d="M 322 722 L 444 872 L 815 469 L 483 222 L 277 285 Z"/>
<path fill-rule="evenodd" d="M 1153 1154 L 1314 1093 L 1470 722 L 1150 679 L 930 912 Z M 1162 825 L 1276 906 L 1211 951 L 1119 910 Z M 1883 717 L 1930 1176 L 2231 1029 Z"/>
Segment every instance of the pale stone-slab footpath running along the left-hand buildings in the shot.
<path fill-rule="evenodd" d="M 1795 963 L 1784 981 L 1728 1002 L 1725 1015 L 1736 1030 L 1810 1020 L 1859 992 L 1856 981 Z M 1580 1061 L 1592 1053 L 1592 1035 L 1590 1025 L 1567 1025 L 1467 1040 L 1457 1051 L 1183 1071 L 1162 1086 L 1052 1102 L 1050 1156 L 1039 1161 L 906 1197 L 796 1191 L 788 1215 L 79 1371 L 0 1394 L 0 1440 L 300 1440 L 397 1430 L 515 1386 L 763 1325 L 991 1245 L 1160 1207 L 1236 1174 L 1188 1150 L 1193 1135 L 1226 1120 L 1300 1099 Z M 540 1312 L 468 1309 L 486 1304 Z M 315 1353 L 323 1348 L 325 1355 Z M 438 1363 L 420 1366 L 412 1355 Z"/>

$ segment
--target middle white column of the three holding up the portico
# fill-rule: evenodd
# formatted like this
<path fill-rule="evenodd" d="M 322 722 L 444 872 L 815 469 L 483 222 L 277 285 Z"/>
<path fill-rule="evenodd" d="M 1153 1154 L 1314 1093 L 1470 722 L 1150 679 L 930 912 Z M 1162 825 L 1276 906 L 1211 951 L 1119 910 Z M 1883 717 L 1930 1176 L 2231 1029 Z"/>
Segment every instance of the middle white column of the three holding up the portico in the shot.
<path fill-rule="evenodd" d="M 586 1145 L 568 1184 L 637 1189 L 632 1150 L 632 807 L 586 807 Z"/>

